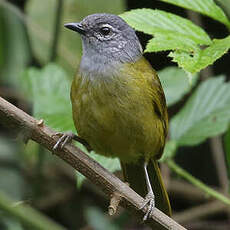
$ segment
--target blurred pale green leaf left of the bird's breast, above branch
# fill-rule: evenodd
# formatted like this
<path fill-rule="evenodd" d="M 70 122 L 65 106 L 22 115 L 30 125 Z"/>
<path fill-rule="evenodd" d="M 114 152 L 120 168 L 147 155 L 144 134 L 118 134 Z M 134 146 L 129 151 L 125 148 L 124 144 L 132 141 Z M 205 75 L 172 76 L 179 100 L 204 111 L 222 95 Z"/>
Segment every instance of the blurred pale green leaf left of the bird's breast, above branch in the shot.
<path fill-rule="evenodd" d="M 70 81 L 62 68 L 49 64 L 29 68 L 24 75 L 34 103 L 33 114 L 58 131 L 75 131 L 70 103 Z"/>

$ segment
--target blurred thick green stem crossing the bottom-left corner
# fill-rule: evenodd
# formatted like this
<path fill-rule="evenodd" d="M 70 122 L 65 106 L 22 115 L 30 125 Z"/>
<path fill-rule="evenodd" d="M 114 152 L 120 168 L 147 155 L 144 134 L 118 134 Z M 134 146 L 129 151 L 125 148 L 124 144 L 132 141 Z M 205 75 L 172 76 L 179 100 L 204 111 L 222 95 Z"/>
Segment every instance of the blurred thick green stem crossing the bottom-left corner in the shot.
<path fill-rule="evenodd" d="M 0 209 L 10 216 L 14 216 L 19 221 L 30 229 L 35 230 L 65 230 L 64 227 L 56 224 L 46 216 L 42 215 L 35 209 L 25 206 L 24 204 L 17 204 L 10 200 L 4 193 L 0 191 Z"/>

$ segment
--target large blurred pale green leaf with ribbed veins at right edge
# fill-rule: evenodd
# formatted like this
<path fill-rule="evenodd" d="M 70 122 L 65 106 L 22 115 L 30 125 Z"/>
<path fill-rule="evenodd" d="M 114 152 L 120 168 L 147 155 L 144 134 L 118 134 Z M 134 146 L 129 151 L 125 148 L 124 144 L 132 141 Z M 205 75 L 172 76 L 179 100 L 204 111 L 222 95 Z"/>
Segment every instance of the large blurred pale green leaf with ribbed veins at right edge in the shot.
<path fill-rule="evenodd" d="M 226 131 L 230 121 L 230 83 L 224 77 L 203 82 L 170 123 L 178 145 L 196 145 Z"/>

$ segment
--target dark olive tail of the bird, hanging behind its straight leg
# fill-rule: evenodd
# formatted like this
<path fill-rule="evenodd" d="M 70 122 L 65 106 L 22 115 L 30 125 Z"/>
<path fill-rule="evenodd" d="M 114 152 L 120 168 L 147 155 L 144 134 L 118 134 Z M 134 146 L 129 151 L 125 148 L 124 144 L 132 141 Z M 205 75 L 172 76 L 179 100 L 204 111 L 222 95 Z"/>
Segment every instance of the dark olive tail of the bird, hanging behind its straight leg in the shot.
<path fill-rule="evenodd" d="M 140 160 L 136 163 L 121 162 L 121 167 L 125 181 L 129 186 L 142 197 L 147 194 L 147 186 L 144 174 L 144 161 Z M 171 206 L 167 191 L 162 181 L 160 168 L 156 160 L 149 161 L 148 175 L 155 195 L 155 204 L 158 209 L 166 215 L 171 216 Z"/>

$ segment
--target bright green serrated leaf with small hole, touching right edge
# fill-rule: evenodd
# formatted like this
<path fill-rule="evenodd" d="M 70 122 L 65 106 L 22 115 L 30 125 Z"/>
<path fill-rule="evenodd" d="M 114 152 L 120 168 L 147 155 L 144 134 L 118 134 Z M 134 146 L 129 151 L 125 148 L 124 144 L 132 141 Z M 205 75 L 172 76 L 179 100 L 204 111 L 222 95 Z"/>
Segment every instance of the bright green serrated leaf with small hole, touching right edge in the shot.
<path fill-rule="evenodd" d="M 193 54 L 176 50 L 171 52 L 169 56 L 184 70 L 190 73 L 196 73 L 208 65 L 213 64 L 217 59 L 227 53 L 229 48 L 230 36 L 224 39 L 214 39 L 210 46 L 200 49 L 199 51 L 197 50 L 198 52 L 196 51 Z"/>

